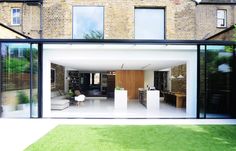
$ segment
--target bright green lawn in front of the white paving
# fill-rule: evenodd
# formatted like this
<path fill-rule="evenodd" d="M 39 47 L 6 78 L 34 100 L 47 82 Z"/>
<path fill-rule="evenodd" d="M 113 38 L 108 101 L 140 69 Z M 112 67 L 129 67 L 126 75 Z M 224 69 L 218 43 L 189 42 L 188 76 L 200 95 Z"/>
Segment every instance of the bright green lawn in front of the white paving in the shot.
<path fill-rule="evenodd" d="M 236 126 L 59 125 L 25 151 L 236 151 Z"/>

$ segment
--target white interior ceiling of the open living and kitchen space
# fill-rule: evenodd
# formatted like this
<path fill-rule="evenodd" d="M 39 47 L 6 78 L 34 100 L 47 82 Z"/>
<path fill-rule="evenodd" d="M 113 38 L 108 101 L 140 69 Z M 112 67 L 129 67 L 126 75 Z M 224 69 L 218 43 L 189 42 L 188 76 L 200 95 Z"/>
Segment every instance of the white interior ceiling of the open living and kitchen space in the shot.
<path fill-rule="evenodd" d="M 81 71 L 161 70 L 186 63 L 175 60 L 53 60 L 52 62 Z"/>

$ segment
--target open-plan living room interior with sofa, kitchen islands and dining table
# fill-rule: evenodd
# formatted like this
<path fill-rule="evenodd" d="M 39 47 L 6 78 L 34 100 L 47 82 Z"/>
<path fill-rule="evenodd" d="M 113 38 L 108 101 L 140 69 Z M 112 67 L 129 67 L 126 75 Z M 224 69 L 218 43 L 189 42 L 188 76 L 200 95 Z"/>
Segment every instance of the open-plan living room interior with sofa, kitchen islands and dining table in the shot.
<path fill-rule="evenodd" d="M 156 71 L 148 69 L 149 64 L 138 70 L 129 63 L 120 64 L 120 69 L 116 70 L 84 70 L 55 61 L 51 63 L 51 116 L 185 117 L 186 64 L 176 63 L 169 62 L 168 67 Z M 155 94 L 155 91 L 158 93 Z M 126 92 L 124 104 L 122 96 L 116 97 L 119 92 Z M 154 93 L 151 107 L 148 104 L 149 92 Z"/>

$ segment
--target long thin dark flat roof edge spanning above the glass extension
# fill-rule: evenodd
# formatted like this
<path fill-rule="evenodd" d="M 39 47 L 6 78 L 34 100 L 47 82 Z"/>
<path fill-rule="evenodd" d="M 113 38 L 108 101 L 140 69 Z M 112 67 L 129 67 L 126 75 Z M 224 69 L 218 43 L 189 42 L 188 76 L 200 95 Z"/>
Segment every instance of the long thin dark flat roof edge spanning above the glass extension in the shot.
<path fill-rule="evenodd" d="M 0 39 L 1 43 L 39 44 L 147 44 L 147 45 L 236 45 L 235 41 L 219 40 L 146 40 L 146 39 Z"/>

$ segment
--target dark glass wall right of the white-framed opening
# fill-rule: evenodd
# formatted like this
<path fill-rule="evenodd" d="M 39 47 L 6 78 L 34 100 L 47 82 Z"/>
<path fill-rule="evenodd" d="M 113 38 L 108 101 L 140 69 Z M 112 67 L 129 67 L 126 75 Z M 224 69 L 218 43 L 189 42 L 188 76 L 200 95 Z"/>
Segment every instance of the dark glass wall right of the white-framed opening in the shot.
<path fill-rule="evenodd" d="M 201 46 L 200 117 L 231 118 L 233 115 L 233 47 Z"/>

